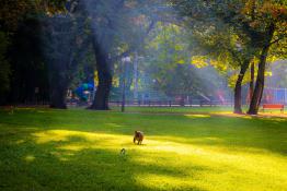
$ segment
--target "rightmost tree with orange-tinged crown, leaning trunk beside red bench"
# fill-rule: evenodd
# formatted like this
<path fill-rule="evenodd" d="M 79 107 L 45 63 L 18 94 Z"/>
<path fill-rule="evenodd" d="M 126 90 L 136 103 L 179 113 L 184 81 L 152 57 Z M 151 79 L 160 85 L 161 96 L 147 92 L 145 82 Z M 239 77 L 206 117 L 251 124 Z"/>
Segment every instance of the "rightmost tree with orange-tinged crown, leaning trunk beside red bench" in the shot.
<path fill-rule="evenodd" d="M 286 41 L 287 38 L 287 2 L 252 0 L 249 3 L 245 4 L 243 9 L 245 12 L 243 13 L 245 13 L 246 23 L 252 29 L 249 28 L 246 32 L 253 32 L 259 36 L 256 45 L 261 49 L 256 84 L 248 111 L 250 115 L 256 115 L 263 95 L 266 60 L 269 50 L 274 44 L 278 46 L 280 41 Z"/>

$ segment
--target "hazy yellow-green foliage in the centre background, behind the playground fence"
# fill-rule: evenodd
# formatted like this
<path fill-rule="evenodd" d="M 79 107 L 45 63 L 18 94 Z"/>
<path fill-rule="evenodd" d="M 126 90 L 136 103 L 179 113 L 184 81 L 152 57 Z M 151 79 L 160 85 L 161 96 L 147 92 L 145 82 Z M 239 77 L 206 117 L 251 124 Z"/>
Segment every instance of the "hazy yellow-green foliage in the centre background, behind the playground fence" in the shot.
<path fill-rule="evenodd" d="M 142 70 L 150 76 L 154 89 L 169 96 L 193 95 L 198 92 L 213 95 L 222 88 L 223 77 L 211 69 L 209 61 L 192 57 L 195 45 L 188 29 L 159 22 L 146 40 Z M 225 88 L 226 89 L 226 88 Z"/>

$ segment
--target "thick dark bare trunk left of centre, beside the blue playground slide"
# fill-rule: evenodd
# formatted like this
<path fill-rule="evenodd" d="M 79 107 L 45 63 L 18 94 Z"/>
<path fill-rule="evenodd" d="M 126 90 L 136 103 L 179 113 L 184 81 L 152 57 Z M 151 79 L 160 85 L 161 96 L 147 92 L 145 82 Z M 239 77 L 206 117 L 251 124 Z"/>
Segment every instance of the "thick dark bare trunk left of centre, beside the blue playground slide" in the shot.
<path fill-rule="evenodd" d="M 96 60 L 96 70 L 99 76 L 99 86 L 95 92 L 95 97 L 90 109 L 108 110 L 108 97 L 112 87 L 112 69 L 111 59 L 102 45 L 94 38 L 93 49 Z"/>

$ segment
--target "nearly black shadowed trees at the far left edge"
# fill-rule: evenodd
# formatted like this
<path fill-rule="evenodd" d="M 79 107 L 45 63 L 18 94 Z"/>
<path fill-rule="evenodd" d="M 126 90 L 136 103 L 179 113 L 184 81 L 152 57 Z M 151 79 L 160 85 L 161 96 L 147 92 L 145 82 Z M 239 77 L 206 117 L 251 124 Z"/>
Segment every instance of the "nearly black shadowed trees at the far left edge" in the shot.
<path fill-rule="evenodd" d="M 64 9 L 64 1 L 1 1 L 1 105 L 49 100 L 50 84 L 42 46 L 41 17 Z"/>

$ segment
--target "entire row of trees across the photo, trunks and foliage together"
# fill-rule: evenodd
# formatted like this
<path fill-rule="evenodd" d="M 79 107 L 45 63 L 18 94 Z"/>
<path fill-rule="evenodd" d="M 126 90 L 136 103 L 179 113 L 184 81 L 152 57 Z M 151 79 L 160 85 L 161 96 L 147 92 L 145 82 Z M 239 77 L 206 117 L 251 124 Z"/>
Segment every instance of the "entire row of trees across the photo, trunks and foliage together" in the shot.
<path fill-rule="evenodd" d="M 225 80 L 214 83 L 204 75 L 209 69 L 198 70 L 207 63 L 223 77 L 238 70 L 233 83 L 238 114 L 245 73 L 250 65 L 259 67 L 251 70 L 251 76 L 257 74 L 254 91 L 250 83 L 249 114 L 256 114 L 266 59 L 286 57 L 286 2 L 3 1 L 0 38 L 2 103 L 35 103 L 41 97 L 51 107 L 66 108 L 67 89 L 84 79 L 79 75 L 83 68 L 91 70 L 85 70 L 89 79 L 96 70 L 92 109 L 108 109 L 113 82 L 123 86 L 126 67 L 126 85 L 135 89 L 135 99 L 142 83 L 140 72 L 152 81 L 147 84 L 168 96 L 195 95 L 211 85 L 221 88 Z M 129 65 L 123 65 L 126 57 Z"/>

